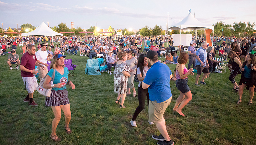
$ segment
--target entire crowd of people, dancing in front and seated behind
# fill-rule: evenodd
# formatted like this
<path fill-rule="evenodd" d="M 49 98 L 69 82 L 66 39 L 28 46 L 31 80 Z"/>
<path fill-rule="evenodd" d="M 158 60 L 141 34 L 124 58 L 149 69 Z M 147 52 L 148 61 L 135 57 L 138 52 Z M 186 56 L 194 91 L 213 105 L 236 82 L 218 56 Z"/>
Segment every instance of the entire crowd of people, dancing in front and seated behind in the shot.
<path fill-rule="evenodd" d="M 65 129 L 66 133 L 70 134 L 72 130 L 69 128 L 71 119 L 71 111 L 68 99 L 68 92 L 66 85 L 75 89 L 75 85 L 68 79 L 68 69 L 64 65 L 66 55 L 88 56 L 89 59 L 95 58 L 97 54 L 102 54 L 106 59 L 109 74 L 112 74 L 112 67 L 114 67 L 114 92 L 118 93 L 116 104 L 120 104 L 119 108 L 126 108 L 124 106 L 125 98 L 128 95 L 136 97 L 138 95 L 139 105 L 135 109 L 134 115 L 130 121 L 131 125 L 137 127 L 136 118 L 145 107 L 147 98 L 148 105 L 148 122 L 150 125 L 155 124 L 159 132 L 159 136 L 152 135 L 153 139 L 158 140 L 158 144 L 172 145 L 174 144 L 166 130 L 165 119 L 163 114 L 169 106 L 172 94 L 170 90 L 170 80 L 175 81 L 177 89 L 180 91 L 180 96 L 177 98 L 173 110 L 182 116 L 183 107 L 192 100 L 192 93 L 188 85 L 188 76 L 194 76 L 195 85 L 198 84 L 199 78 L 203 73 L 200 84 L 207 85 L 205 79 L 210 77 L 210 73 L 214 72 L 215 66 L 222 61 L 217 61 L 215 54 L 218 50 L 219 57 L 224 61 L 230 58 L 227 66 L 230 69 L 229 80 L 233 83 L 233 90 L 239 93 L 237 104 L 242 102 L 243 89 L 246 87 L 250 91 L 250 99 L 248 105 L 251 105 L 254 89 L 256 85 L 256 51 L 255 39 L 229 39 L 217 37 L 222 40 L 222 44 L 217 46 L 214 43 L 213 47 L 209 47 L 207 42 L 201 38 L 193 38 L 188 47 L 188 53 L 181 52 L 179 56 L 175 51 L 167 53 L 166 48 L 175 50 L 173 46 L 173 38 L 168 39 L 169 46 L 165 47 L 165 37 L 160 38 L 146 38 L 140 36 L 134 37 L 54 37 L 55 41 L 60 41 L 60 45 L 53 43 L 42 43 L 42 41 L 51 40 L 51 37 L 24 37 L 23 53 L 21 60 L 16 54 L 15 49 L 11 51 L 8 56 L 7 64 L 10 69 L 13 69 L 12 64 L 16 64 L 16 69 L 21 69 L 21 76 L 28 91 L 27 97 L 23 100 L 28 102 L 30 106 L 38 106 L 33 100 L 34 90 L 38 84 L 35 74 L 39 73 L 40 81 L 44 80 L 43 87 L 51 89 L 50 97 L 46 97 L 45 105 L 51 106 L 54 112 L 54 119 L 52 121 L 52 132 L 50 138 L 54 141 L 61 139 L 56 135 L 56 128 L 61 118 L 61 110 L 65 115 Z M 211 38 L 211 39 L 216 39 Z M 82 41 L 84 40 L 84 41 Z M 227 40 L 227 44 L 225 41 Z M 1 46 L 10 47 L 13 42 L 19 45 L 20 39 L 8 38 L 2 40 Z M 34 42 L 35 41 L 35 42 Z M 251 43 L 250 43 L 250 42 Z M 40 44 L 41 42 L 41 44 Z M 213 42 L 216 42 L 213 41 Z M 229 43 L 231 42 L 231 44 Z M 37 51 L 36 46 L 37 44 Z M 144 43 L 144 48 L 142 47 Z M 7 45 L 6 45 L 7 44 Z M 60 47 L 59 47 L 60 46 Z M 48 47 L 48 50 L 46 50 Z M 54 49 L 52 51 L 51 49 Z M 66 55 L 64 55 L 66 54 Z M 160 58 L 165 58 L 161 62 Z M 47 61 L 51 60 L 50 71 L 48 72 Z M 188 63 L 188 68 L 185 64 Z M 174 73 L 166 64 L 176 64 Z M 190 68 L 192 67 L 193 68 Z M 37 66 L 37 69 L 35 69 Z M 235 77 L 241 74 L 239 85 Z M 52 78 L 54 79 L 52 80 Z M 137 92 L 134 86 L 134 81 L 138 80 L 139 85 Z M 51 83 L 52 82 L 52 83 Z"/>

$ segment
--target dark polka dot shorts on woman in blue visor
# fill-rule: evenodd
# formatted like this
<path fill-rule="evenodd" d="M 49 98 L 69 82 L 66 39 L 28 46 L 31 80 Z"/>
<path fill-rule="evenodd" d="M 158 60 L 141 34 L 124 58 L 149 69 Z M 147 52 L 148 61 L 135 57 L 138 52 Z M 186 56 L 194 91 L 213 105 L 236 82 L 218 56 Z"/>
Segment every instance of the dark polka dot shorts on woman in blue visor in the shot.
<path fill-rule="evenodd" d="M 50 97 L 46 97 L 45 106 L 60 106 L 69 104 L 67 90 L 52 90 Z"/>

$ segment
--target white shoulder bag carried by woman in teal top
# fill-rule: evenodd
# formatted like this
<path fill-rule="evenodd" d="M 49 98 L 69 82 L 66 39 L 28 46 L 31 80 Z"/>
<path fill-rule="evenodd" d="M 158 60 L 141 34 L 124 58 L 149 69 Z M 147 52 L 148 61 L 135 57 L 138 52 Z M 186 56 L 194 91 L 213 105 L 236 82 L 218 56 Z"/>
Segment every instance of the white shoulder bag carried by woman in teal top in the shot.
<path fill-rule="evenodd" d="M 48 74 L 48 73 L 47 73 L 47 74 Z M 40 93 L 41 95 L 46 96 L 46 97 L 50 97 L 52 88 L 50 88 L 50 89 L 45 89 L 45 88 L 43 88 L 44 81 L 45 81 L 45 78 L 46 78 L 47 74 L 46 74 L 45 77 L 40 81 L 40 83 L 39 83 L 39 85 L 37 86 L 36 90 L 37 90 L 37 92 Z M 53 69 L 52 79 L 51 79 L 51 81 L 50 81 L 50 84 L 51 84 L 51 85 L 53 85 L 54 77 L 55 77 L 55 69 Z"/>

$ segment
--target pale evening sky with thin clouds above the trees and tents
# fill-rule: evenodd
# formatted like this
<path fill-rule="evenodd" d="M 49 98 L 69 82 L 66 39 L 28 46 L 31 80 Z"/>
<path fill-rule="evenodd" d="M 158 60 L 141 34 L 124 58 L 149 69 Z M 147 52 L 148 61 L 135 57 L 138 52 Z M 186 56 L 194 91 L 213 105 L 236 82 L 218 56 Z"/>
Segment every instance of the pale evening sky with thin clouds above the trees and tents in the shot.
<path fill-rule="evenodd" d="M 166 30 L 172 20 L 179 22 L 191 9 L 195 18 L 207 25 L 220 21 L 256 22 L 255 0 L 0 0 L 0 27 L 20 28 L 23 24 L 39 26 L 49 22 L 50 27 L 66 23 L 70 28 L 140 29 L 148 25 Z M 169 16 L 168 16 L 169 12 Z M 167 20 L 167 16 L 169 17 Z"/>

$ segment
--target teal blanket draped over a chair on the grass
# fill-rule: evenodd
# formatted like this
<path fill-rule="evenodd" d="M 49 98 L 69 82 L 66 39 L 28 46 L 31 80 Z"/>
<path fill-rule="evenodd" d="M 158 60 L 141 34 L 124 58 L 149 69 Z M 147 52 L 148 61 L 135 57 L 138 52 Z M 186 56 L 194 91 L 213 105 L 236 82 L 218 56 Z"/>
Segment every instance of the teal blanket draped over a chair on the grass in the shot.
<path fill-rule="evenodd" d="M 99 69 L 98 60 L 97 59 L 88 59 L 85 67 L 85 74 L 88 75 L 101 75 L 101 73 L 97 72 Z"/>

